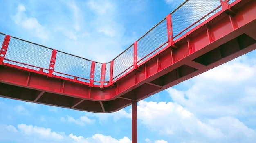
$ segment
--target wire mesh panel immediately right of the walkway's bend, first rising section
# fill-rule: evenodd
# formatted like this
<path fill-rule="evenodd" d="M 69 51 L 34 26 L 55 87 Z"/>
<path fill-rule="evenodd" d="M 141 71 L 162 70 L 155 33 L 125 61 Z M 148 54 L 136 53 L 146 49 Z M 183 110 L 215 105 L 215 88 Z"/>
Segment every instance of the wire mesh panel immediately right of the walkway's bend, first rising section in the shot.
<path fill-rule="evenodd" d="M 114 59 L 113 80 L 128 72 L 130 67 L 133 67 L 133 49 L 132 45 Z"/>

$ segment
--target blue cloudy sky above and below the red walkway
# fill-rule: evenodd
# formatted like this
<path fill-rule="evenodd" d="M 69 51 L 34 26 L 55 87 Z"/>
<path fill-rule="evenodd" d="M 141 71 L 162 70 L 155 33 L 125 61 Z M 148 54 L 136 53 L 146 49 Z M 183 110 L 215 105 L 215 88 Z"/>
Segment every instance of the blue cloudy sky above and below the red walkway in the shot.
<path fill-rule="evenodd" d="M 180 0 L 2 0 L 0 32 L 108 62 Z M 139 143 L 253 143 L 256 51 L 139 101 Z M 1 143 L 130 143 L 131 106 L 89 113 L 0 98 Z"/>

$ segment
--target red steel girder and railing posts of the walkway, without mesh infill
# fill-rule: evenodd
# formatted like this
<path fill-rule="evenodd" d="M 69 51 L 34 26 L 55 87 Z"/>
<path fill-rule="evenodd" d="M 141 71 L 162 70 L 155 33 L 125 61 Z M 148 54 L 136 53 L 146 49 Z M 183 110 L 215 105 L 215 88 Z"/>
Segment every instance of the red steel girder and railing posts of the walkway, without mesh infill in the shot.
<path fill-rule="evenodd" d="M 188 31 L 184 29 L 186 32 L 183 35 L 173 35 L 173 13 L 168 15 L 168 44 L 158 51 L 149 52 L 149 58 L 138 63 L 139 47 L 135 42 L 133 64 L 130 65 L 133 68 L 125 73 L 117 73 L 120 76 L 114 81 L 116 71 L 113 70 L 113 60 L 108 69 L 108 63 L 102 65 L 100 75 L 105 72 L 109 81 L 101 82 L 105 80 L 101 77 L 99 85 L 94 84 L 94 74 L 97 74 L 94 61 L 85 60 L 90 63 L 90 75 L 86 75 L 88 79 L 69 73 L 63 74 L 65 76 L 61 76 L 62 73 L 53 74 L 54 69 L 50 68 L 51 65 L 54 68 L 54 64 L 56 67 L 56 52 L 58 55 L 58 51 L 53 50 L 49 69 L 21 63 L 39 69 L 35 70 L 3 62 L 0 67 L 0 96 L 82 111 L 118 111 L 256 49 L 256 1 L 236 0 L 230 5 L 227 0 L 220 1 L 222 11 L 195 27 L 186 28 Z M 9 36 L 6 37 L 8 39 Z M 3 49 L 7 48 L 2 47 L 1 54 L 6 52 Z M 106 75 L 107 70 L 110 75 Z"/>

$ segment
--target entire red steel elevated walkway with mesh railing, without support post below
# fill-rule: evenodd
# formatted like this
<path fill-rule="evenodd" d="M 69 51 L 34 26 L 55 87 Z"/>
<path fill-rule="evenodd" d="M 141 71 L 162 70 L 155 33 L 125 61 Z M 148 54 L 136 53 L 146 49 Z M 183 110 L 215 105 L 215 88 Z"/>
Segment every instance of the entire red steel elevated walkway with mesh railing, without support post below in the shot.
<path fill-rule="evenodd" d="M 187 0 L 109 63 L 0 42 L 0 96 L 114 112 L 256 49 L 256 0 Z"/>

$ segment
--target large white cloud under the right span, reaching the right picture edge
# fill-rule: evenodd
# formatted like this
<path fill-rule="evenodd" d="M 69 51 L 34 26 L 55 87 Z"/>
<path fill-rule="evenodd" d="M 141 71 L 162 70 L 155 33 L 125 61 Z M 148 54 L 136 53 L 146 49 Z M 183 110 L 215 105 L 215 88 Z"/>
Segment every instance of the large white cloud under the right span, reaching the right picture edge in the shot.
<path fill-rule="evenodd" d="M 199 117 L 255 117 L 255 78 L 255 59 L 242 56 L 185 81 L 181 85 L 191 85 L 187 90 L 171 87 L 166 91 L 174 102 Z"/>

